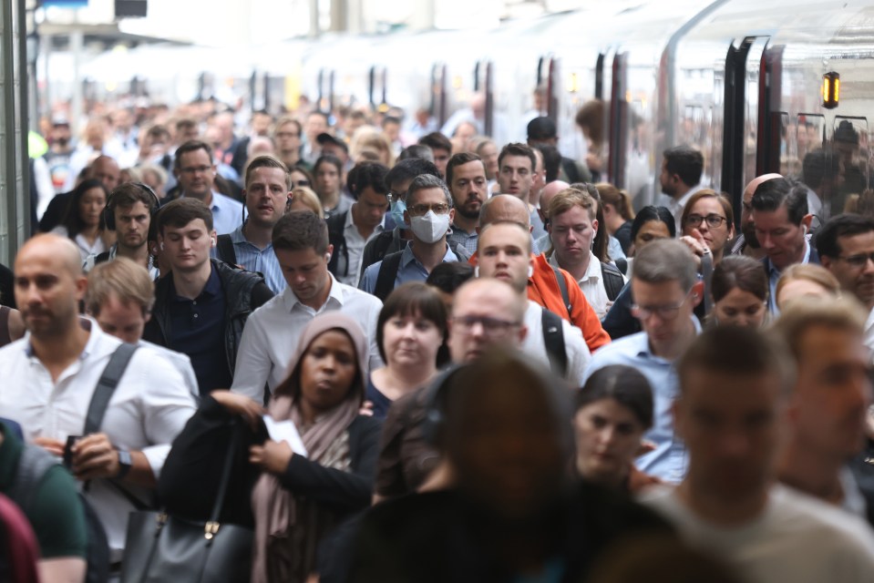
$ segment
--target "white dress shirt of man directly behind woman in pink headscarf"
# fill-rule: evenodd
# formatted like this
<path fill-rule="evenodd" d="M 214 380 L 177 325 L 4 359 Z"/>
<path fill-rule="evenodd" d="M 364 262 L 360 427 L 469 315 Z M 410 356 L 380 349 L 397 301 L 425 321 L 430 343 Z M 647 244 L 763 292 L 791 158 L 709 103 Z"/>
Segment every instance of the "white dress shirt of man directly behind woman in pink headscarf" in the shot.
<path fill-rule="evenodd" d="M 231 391 L 245 394 L 258 403 L 264 399 L 264 384 L 272 391 L 291 371 L 290 360 L 297 349 L 303 327 L 318 314 L 339 310 L 361 324 L 370 339 L 370 369 L 382 366 L 376 348 L 376 319 L 383 302 L 331 277 L 331 292 L 318 310 L 303 305 L 291 288 L 266 302 L 249 316 L 242 331 Z"/>

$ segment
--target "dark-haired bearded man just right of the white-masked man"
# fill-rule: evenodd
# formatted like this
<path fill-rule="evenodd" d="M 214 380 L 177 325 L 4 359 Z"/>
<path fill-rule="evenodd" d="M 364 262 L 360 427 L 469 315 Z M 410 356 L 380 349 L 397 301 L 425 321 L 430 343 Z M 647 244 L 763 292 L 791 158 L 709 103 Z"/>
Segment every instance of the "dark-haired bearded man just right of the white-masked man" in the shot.
<path fill-rule="evenodd" d="M 486 201 L 486 166 L 476 154 L 460 152 L 449 159 L 446 178 L 455 206 L 447 240 L 451 247 L 460 245 L 473 254 L 479 237 L 479 210 Z"/>

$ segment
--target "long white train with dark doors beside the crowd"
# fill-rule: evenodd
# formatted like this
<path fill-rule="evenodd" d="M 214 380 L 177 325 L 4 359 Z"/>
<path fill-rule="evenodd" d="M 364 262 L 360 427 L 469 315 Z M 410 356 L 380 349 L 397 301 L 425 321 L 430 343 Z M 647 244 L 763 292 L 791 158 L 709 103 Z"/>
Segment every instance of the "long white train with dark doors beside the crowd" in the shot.
<path fill-rule="evenodd" d="M 849 156 L 864 180 L 859 189 L 868 188 L 874 5 L 587 4 L 491 30 L 328 35 L 221 50 L 140 46 L 123 58 L 100 56 L 84 71 L 92 97 L 108 100 L 111 87 L 170 104 L 216 96 L 278 113 L 304 95 L 326 111 L 426 108 L 438 126 L 480 96 L 484 133 L 523 140 L 534 109 L 554 119 L 571 157 L 584 149 L 577 111 L 600 100 L 603 175 L 631 192 L 635 206 L 659 196 L 663 149 L 687 144 L 704 154 L 703 183 L 731 195 L 735 217 L 750 179 L 802 178 L 805 154 L 831 148 L 838 128 L 851 128 Z"/>

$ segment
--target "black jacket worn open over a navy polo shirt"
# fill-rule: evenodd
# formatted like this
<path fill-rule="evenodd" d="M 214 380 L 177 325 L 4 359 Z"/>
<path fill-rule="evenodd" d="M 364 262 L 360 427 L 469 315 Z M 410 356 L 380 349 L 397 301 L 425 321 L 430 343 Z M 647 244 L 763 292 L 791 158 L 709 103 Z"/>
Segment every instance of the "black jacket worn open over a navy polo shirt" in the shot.
<path fill-rule="evenodd" d="M 234 363 L 237 361 L 237 348 L 239 348 L 242 338 L 242 328 L 246 325 L 249 314 L 270 300 L 273 297 L 273 292 L 258 273 L 231 267 L 223 261 L 214 259 L 210 261 L 212 269 L 219 272 L 221 290 L 224 292 L 225 356 L 228 358 L 228 369 L 233 374 Z M 155 287 L 155 307 L 152 309 L 151 320 L 143 331 L 143 339 L 184 353 L 184 346 L 170 346 L 170 338 L 173 336 L 170 330 L 172 281 L 172 271 L 158 281 L 158 285 Z"/>

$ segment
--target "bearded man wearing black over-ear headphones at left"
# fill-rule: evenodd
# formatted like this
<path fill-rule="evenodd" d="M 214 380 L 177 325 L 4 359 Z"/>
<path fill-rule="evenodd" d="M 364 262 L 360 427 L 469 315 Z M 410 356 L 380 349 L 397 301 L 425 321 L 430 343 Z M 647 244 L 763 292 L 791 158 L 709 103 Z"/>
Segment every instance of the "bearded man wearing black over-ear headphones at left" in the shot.
<path fill-rule="evenodd" d="M 104 217 L 108 230 L 116 231 L 116 242 L 109 251 L 100 253 L 94 263 L 127 257 L 149 270 L 152 280 L 158 279 L 158 268 L 152 264 L 149 248 L 149 227 L 158 210 L 158 197 L 144 184 L 125 182 L 109 194 Z M 89 258 L 89 262 L 90 262 Z M 86 271 L 93 265 L 87 264 Z"/>

